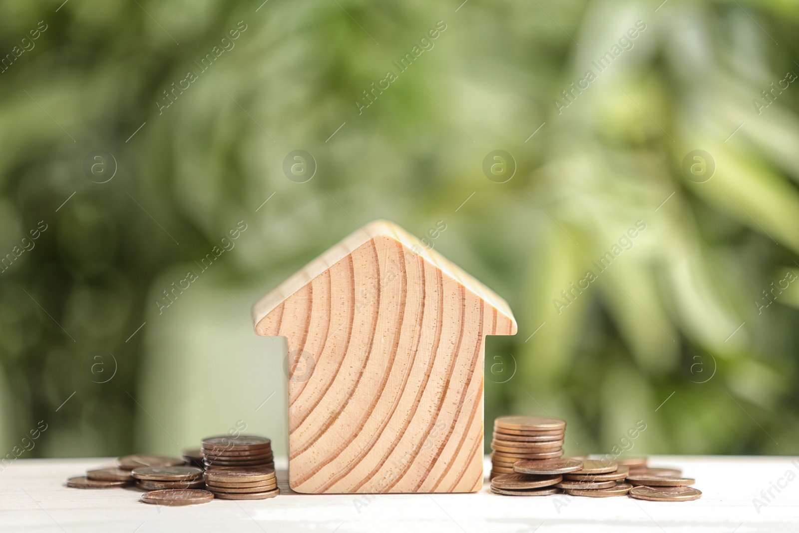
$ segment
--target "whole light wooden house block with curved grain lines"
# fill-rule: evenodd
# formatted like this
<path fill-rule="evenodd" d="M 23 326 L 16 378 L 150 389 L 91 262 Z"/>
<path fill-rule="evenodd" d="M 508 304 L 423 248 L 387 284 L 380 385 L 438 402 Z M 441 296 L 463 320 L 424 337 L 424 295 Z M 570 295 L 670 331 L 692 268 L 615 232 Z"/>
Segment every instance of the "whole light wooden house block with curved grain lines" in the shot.
<path fill-rule="evenodd" d="M 485 336 L 505 300 L 386 221 L 357 230 L 252 309 L 288 339 L 294 491 L 474 492 L 483 486 Z"/>

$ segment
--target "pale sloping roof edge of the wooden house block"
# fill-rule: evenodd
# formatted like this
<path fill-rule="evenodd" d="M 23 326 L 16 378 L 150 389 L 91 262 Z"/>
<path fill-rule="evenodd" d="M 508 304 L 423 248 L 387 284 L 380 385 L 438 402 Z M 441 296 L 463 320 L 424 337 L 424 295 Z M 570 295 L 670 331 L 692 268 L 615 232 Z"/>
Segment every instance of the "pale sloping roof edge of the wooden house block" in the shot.
<path fill-rule="evenodd" d="M 430 265 L 439 268 L 444 275 L 457 281 L 468 291 L 475 294 L 475 296 L 479 296 L 479 298 L 483 299 L 486 304 L 495 308 L 499 314 L 507 317 L 512 324 L 511 335 L 516 333 L 516 320 L 511 312 L 511 308 L 502 297 L 478 280 L 475 280 L 474 277 L 464 272 L 457 265 L 448 261 L 440 253 L 435 252 L 433 249 L 427 249 L 419 239 L 407 233 L 404 229 L 400 228 L 400 226 L 388 221 L 373 221 L 364 225 L 363 228 L 357 229 L 348 237 L 344 238 L 339 244 L 328 249 L 327 252 L 308 263 L 308 265 L 299 272 L 296 272 L 296 274 L 289 277 L 288 280 L 278 285 L 272 292 L 269 292 L 266 296 L 258 300 L 256 304 L 252 306 L 252 319 L 255 323 L 256 333 L 262 336 L 268 335 L 261 321 L 269 312 L 272 312 L 272 310 L 277 308 L 284 300 L 299 291 L 316 276 L 320 276 L 333 265 L 336 265 L 337 262 L 376 237 L 390 237 L 400 242 L 403 248 L 406 249 L 406 253 L 414 253 L 422 257 L 423 260 L 427 261 Z"/>

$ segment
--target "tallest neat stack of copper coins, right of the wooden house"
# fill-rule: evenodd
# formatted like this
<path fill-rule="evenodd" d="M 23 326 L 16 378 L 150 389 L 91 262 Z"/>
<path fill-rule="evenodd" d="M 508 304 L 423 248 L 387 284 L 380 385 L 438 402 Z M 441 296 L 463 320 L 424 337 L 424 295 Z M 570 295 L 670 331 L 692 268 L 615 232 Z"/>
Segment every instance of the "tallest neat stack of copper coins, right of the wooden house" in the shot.
<path fill-rule="evenodd" d="M 513 465 L 529 459 L 563 455 L 566 422 L 547 416 L 500 416 L 491 440 L 491 478 L 514 473 Z"/>

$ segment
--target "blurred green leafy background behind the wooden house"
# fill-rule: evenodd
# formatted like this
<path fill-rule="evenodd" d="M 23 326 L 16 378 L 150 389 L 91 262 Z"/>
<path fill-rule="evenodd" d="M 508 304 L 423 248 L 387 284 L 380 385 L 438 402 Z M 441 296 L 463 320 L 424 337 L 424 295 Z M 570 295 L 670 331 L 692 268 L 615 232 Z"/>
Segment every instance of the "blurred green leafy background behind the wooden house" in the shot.
<path fill-rule="evenodd" d="M 284 452 L 248 309 L 377 218 L 511 304 L 488 424 L 799 453 L 799 3 L 661 2 L 2 2 L 3 453 Z"/>

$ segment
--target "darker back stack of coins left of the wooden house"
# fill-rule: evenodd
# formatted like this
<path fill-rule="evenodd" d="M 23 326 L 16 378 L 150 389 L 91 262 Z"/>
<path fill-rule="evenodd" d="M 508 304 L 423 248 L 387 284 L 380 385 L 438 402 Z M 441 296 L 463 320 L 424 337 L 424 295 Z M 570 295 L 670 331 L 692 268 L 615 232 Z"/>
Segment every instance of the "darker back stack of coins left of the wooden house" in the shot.
<path fill-rule="evenodd" d="M 275 468 L 272 441 L 266 437 L 209 437 L 203 439 L 201 453 L 205 468 Z"/>

